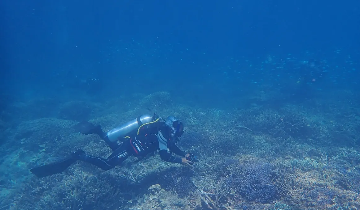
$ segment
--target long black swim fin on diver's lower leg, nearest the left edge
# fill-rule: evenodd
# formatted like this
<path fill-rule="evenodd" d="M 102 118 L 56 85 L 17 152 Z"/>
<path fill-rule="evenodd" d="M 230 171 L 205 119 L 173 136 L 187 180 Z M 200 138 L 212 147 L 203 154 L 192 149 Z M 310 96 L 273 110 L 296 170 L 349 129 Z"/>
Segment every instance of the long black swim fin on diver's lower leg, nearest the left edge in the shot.
<path fill-rule="evenodd" d="M 70 165 L 76 162 L 75 158 L 69 157 L 58 162 L 41 165 L 36 168 L 30 169 L 30 172 L 33 173 L 37 177 L 45 177 L 50 176 L 57 173 L 62 173 L 65 171 Z"/>

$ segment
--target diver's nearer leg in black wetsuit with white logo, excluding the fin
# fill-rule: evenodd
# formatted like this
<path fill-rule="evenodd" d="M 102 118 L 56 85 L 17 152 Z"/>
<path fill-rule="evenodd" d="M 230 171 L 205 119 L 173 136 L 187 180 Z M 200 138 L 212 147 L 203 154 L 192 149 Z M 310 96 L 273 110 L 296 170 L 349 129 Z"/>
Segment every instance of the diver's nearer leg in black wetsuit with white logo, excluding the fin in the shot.
<path fill-rule="evenodd" d="M 96 165 L 104 171 L 107 171 L 121 164 L 132 155 L 131 150 L 129 150 L 129 145 L 130 143 L 123 142 L 107 159 L 87 155 L 85 153 L 79 154 L 75 158 Z"/>

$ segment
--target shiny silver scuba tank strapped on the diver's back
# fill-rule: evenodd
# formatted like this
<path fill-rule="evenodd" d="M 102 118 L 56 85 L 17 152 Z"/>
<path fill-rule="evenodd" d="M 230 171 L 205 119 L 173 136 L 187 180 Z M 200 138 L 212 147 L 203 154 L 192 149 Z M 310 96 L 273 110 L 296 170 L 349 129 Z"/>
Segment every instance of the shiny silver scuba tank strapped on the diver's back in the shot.
<path fill-rule="evenodd" d="M 119 127 L 116 127 L 112 130 L 109 130 L 107 132 L 108 138 L 111 142 L 115 142 L 117 140 L 123 139 L 126 135 L 128 135 L 130 132 L 135 131 L 139 129 L 139 127 L 145 123 L 152 122 L 153 116 L 151 115 L 142 115 L 137 117 L 134 120 L 131 120 Z"/>

